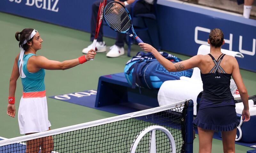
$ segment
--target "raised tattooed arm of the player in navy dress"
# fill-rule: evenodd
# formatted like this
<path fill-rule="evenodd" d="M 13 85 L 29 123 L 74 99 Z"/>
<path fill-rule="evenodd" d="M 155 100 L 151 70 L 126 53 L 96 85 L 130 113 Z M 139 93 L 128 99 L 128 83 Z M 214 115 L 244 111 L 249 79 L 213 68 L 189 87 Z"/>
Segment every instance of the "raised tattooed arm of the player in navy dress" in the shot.
<path fill-rule="evenodd" d="M 191 57 L 188 60 L 172 63 L 171 61 L 164 58 L 159 52 L 152 47 L 149 44 L 146 43 L 139 43 L 140 47 L 146 51 L 151 52 L 157 59 L 157 61 L 164 66 L 165 69 L 167 69 L 169 72 L 176 72 L 176 71 L 183 71 L 191 68 L 198 67 L 199 63 L 201 62 L 200 56 L 202 55 L 196 55 Z"/>

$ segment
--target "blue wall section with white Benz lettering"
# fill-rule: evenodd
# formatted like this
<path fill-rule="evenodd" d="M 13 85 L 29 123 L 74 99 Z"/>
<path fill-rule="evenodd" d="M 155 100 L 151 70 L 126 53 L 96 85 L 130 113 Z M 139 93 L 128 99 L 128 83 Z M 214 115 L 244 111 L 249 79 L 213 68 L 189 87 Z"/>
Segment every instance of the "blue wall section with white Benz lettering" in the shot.
<path fill-rule="evenodd" d="M 0 0 L 0 11 L 89 32 L 95 1 Z"/>

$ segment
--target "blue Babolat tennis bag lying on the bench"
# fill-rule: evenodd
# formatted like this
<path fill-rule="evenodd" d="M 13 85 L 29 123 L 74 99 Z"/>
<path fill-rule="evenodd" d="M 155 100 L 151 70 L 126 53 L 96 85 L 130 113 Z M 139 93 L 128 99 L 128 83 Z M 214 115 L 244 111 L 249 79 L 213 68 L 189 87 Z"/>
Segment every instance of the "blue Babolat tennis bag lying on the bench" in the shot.
<path fill-rule="evenodd" d="M 182 61 L 178 57 L 159 52 L 173 63 Z M 167 80 L 179 80 L 181 76 L 191 77 L 192 69 L 180 72 L 168 72 L 151 53 L 138 52 L 124 67 L 125 78 L 132 88 L 144 87 L 148 89 L 159 89 Z"/>

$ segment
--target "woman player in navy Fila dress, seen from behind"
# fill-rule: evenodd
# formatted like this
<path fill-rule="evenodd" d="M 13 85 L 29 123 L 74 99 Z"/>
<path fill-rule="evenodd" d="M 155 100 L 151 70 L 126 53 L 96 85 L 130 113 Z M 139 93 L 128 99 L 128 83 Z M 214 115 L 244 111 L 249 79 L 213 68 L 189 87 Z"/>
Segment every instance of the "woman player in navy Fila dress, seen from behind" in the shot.
<path fill-rule="evenodd" d="M 204 91 L 194 120 L 199 135 L 199 153 L 211 153 L 214 131 L 221 131 L 223 152 L 235 152 L 236 128 L 239 122 L 236 119 L 235 101 L 229 87 L 231 76 L 244 104 L 243 120 L 244 122 L 250 120 L 248 94 L 238 63 L 235 57 L 220 52 L 224 43 L 223 32 L 217 28 L 213 29 L 208 39 L 210 54 L 196 55 L 175 64 L 161 56 L 151 45 L 139 44 L 144 51 L 151 52 L 169 72 L 195 67 L 200 69 Z"/>

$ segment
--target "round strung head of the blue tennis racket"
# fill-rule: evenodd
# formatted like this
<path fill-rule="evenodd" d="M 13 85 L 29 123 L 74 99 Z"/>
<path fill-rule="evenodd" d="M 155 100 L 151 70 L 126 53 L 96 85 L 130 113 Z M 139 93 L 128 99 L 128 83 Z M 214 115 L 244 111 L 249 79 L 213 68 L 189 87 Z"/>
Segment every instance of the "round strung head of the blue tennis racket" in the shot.
<path fill-rule="evenodd" d="M 126 33 L 132 26 L 129 11 L 119 2 L 109 2 L 103 14 L 107 25 L 116 32 Z"/>

